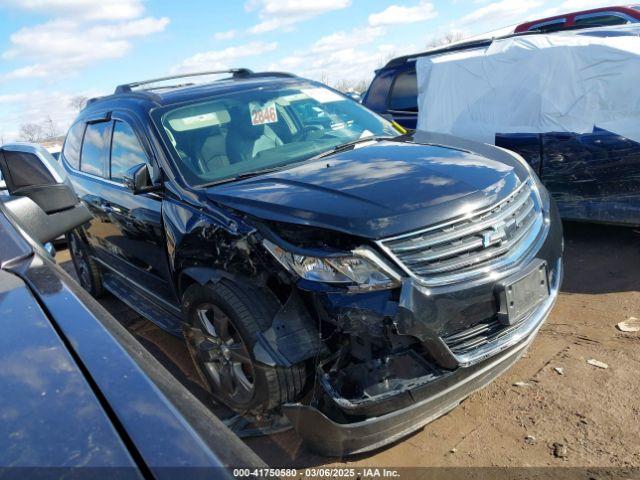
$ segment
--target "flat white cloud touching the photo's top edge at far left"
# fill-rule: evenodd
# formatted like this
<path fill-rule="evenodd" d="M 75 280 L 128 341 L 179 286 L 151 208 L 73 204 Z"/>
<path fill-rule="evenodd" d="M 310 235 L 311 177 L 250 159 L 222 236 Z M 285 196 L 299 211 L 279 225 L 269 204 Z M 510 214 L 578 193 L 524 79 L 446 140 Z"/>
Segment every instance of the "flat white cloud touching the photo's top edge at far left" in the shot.
<path fill-rule="evenodd" d="M 142 0 L 0 0 L 1 6 L 78 20 L 128 20 L 144 12 Z"/>

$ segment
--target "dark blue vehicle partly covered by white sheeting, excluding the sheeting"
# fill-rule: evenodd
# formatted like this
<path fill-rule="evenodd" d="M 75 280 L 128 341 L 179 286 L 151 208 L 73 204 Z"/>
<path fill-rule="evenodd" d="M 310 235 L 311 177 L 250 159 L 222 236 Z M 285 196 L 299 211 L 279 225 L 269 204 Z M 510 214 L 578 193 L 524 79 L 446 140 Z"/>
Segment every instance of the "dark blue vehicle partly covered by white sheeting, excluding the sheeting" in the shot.
<path fill-rule="evenodd" d="M 620 36 L 634 32 L 580 33 L 584 36 L 608 34 Z M 362 103 L 405 128 L 415 129 L 418 119 L 416 60 L 427 55 L 484 48 L 493 41 L 469 41 L 392 59 L 376 71 Z M 562 218 L 640 225 L 640 143 L 595 128 L 585 134 L 497 134 L 495 145 L 520 154 L 531 165 L 556 200 Z"/>

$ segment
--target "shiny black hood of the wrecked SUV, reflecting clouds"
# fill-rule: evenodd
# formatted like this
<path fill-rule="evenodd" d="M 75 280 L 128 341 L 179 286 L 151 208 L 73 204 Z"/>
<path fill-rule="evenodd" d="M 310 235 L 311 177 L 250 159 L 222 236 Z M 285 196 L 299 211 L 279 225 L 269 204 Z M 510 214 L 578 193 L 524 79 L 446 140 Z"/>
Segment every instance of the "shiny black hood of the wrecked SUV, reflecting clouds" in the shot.
<path fill-rule="evenodd" d="M 468 150 L 380 141 L 211 187 L 207 196 L 266 220 L 376 239 L 494 203 L 521 182 L 517 170 Z"/>

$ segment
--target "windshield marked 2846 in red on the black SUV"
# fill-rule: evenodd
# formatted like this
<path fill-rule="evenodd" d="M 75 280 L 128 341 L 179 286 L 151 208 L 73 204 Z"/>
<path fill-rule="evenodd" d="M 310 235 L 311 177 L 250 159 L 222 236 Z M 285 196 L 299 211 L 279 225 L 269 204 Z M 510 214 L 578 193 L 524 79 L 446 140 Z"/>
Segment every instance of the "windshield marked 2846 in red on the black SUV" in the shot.
<path fill-rule="evenodd" d="M 225 94 L 154 117 L 182 175 L 196 186 L 283 167 L 361 138 L 398 135 L 360 104 L 314 84 Z"/>

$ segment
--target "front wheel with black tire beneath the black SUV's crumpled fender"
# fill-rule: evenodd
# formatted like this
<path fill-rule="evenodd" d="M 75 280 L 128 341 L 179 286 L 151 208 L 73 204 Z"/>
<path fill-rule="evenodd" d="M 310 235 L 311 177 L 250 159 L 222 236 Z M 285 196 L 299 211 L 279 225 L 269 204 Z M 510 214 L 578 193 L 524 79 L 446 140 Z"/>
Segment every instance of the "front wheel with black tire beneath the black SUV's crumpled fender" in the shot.
<path fill-rule="evenodd" d="M 185 339 L 198 373 L 213 397 L 238 413 L 268 412 L 295 400 L 304 387 L 304 364 L 271 367 L 253 355 L 257 334 L 269 328 L 277 305 L 260 291 L 225 281 L 191 285 L 183 295 Z"/>

